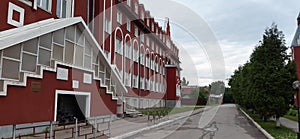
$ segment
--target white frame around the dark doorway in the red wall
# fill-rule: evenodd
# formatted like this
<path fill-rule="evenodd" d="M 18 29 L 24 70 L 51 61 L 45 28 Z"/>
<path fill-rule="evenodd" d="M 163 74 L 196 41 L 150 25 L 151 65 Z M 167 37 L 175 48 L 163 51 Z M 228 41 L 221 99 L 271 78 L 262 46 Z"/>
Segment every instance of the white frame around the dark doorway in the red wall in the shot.
<path fill-rule="evenodd" d="M 89 118 L 91 115 L 91 93 L 90 92 L 78 92 L 78 91 L 65 91 L 65 90 L 55 90 L 55 102 L 54 102 L 54 121 L 56 121 L 57 116 L 57 99 L 58 95 L 77 95 L 77 96 L 87 96 L 86 97 L 86 106 L 85 106 L 85 117 Z"/>

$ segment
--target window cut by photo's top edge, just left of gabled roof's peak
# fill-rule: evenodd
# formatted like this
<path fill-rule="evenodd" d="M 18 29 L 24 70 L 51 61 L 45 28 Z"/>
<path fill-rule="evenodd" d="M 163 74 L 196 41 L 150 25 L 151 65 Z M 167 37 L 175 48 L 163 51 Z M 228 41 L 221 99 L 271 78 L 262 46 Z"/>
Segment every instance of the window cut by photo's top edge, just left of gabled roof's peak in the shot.
<path fill-rule="evenodd" d="M 73 17 L 72 0 L 57 0 L 56 15 L 60 18 Z"/>

